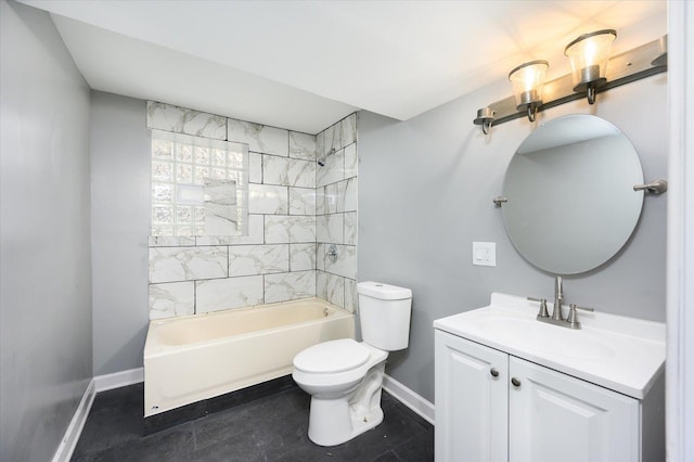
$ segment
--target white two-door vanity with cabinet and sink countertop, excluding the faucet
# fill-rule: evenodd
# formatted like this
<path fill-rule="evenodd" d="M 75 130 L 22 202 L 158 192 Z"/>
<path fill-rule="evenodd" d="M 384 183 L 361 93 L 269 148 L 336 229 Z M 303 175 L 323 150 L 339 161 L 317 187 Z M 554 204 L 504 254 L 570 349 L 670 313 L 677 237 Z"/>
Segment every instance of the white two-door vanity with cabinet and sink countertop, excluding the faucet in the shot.
<path fill-rule="evenodd" d="M 665 324 L 492 294 L 434 321 L 436 461 L 665 460 Z"/>

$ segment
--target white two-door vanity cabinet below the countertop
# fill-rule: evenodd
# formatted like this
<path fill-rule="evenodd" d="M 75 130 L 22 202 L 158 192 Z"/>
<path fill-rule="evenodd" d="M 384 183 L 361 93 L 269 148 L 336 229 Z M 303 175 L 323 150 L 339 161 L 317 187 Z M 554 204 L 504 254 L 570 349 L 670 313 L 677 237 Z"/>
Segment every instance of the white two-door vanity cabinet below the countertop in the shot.
<path fill-rule="evenodd" d="M 437 462 L 665 457 L 658 436 L 653 436 L 656 447 L 642 449 L 642 439 L 651 439 L 641 437 L 642 420 L 657 421 L 647 415 L 657 413 L 657 406 L 644 407 L 639 399 L 505 351 L 435 332 Z"/>

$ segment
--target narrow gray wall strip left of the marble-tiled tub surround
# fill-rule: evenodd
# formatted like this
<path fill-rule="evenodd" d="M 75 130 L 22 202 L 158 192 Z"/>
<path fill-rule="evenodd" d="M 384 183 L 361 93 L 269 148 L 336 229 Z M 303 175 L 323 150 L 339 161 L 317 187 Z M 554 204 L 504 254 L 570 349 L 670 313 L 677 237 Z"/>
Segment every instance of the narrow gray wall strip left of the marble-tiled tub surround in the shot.
<path fill-rule="evenodd" d="M 91 93 L 94 375 L 142 367 L 147 329 L 146 103 Z"/>

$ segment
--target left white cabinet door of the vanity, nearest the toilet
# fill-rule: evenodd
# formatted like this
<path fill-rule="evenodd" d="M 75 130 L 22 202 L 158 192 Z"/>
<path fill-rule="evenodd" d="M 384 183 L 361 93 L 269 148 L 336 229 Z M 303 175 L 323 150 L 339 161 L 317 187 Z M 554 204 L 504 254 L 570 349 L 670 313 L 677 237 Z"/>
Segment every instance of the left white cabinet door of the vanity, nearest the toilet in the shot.
<path fill-rule="evenodd" d="M 506 461 L 509 356 L 436 331 L 436 461 Z"/>

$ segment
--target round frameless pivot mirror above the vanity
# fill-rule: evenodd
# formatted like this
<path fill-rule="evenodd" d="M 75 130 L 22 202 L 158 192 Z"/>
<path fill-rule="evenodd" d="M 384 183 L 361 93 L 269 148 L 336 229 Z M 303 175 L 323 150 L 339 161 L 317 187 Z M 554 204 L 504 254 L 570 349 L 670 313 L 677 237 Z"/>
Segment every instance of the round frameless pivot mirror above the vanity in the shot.
<path fill-rule="evenodd" d="M 626 244 L 641 215 L 643 170 L 627 137 L 592 115 L 538 127 L 503 180 L 503 222 L 518 253 L 556 274 L 590 271 Z"/>

